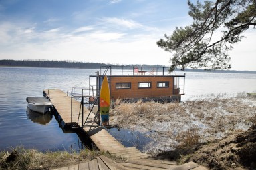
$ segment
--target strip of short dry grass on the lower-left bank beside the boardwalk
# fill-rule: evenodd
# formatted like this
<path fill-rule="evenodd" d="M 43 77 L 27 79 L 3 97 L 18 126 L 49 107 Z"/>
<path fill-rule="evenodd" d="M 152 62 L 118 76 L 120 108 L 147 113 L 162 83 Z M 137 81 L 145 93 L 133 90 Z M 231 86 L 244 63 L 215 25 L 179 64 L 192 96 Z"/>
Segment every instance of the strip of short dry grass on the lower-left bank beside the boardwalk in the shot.
<path fill-rule="evenodd" d="M 83 149 L 80 153 L 69 153 L 68 151 L 41 153 L 35 149 L 17 147 L 13 149 L 12 153 L 15 153 L 15 157 L 11 160 L 7 159 L 11 155 L 8 151 L 0 153 L 0 169 L 52 169 L 78 162 L 87 162 L 100 155 L 106 155 L 117 162 L 125 161 L 122 157 L 114 157 L 98 150 L 90 151 L 89 149 Z"/>

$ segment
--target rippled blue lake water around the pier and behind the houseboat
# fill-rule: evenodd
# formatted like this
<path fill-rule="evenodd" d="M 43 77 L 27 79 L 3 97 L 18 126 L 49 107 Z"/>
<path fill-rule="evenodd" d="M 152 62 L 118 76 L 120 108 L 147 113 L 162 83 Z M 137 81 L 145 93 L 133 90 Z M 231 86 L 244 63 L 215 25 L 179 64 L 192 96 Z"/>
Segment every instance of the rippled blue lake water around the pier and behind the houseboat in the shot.
<path fill-rule="evenodd" d="M 96 71 L 98 69 L 0 67 L 0 151 L 18 145 L 39 151 L 80 149 L 82 145 L 76 133 L 63 131 L 51 114 L 42 116 L 27 111 L 25 99 L 43 97 L 43 89 L 71 91 L 72 87 L 88 87 L 88 76 L 95 75 Z M 182 101 L 201 95 L 226 93 L 235 96 L 253 91 L 256 91 L 256 74 L 187 72 Z M 122 131 L 110 133 L 126 146 L 136 145 L 141 149 L 144 145 L 140 141 L 125 141 L 120 135 Z"/>

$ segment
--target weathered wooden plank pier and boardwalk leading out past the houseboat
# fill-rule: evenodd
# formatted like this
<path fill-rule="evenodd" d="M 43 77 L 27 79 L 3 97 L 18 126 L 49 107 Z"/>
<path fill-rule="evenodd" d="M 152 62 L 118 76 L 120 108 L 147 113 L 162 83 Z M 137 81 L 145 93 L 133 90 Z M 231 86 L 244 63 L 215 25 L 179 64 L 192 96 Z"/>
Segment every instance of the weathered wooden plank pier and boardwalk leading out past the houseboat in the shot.
<path fill-rule="evenodd" d="M 77 123 L 82 127 L 81 121 L 81 108 L 80 102 L 76 101 L 72 97 L 68 96 L 66 93 L 60 89 L 45 89 L 43 91 L 44 95 L 48 97 L 53 103 L 57 111 L 58 121 L 61 121 L 63 126 L 72 125 L 72 123 Z M 87 127 L 83 127 L 85 135 L 88 135 L 94 145 L 98 147 L 100 151 L 110 153 L 111 155 L 117 155 L 126 157 L 128 161 L 126 163 L 118 164 L 106 157 L 98 157 L 95 160 L 90 161 L 89 163 L 83 163 L 82 165 L 71 165 L 70 167 L 63 167 L 59 169 L 176 169 L 181 168 L 180 166 L 175 165 L 173 161 L 161 161 L 154 160 L 152 156 L 148 153 L 141 153 L 136 147 L 124 147 L 120 142 L 118 142 L 108 131 L 106 131 L 101 126 L 94 123 L 95 115 L 90 113 L 90 111 L 84 107 L 84 117 L 88 117 L 87 121 L 84 123 Z M 89 116 L 88 116 L 89 115 Z M 89 127 L 94 123 L 94 127 Z M 139 161 L 138 161 L 139 160 Z M 193 167 L 186 166 L 181 168 L 185 169 L 205 169 L 193 164 Z M 106 165 L 106 166 L 105 166 Z M 185 164 L 184 164 L 185 165 Z M 89 168 L 91 166 L 91 168 Z M 80 168 L 81 167 L 81 168 Z M 96 168 L 97 167 L 97 168 Z M 102 168 L 105 167 L 105 168 Z"/>

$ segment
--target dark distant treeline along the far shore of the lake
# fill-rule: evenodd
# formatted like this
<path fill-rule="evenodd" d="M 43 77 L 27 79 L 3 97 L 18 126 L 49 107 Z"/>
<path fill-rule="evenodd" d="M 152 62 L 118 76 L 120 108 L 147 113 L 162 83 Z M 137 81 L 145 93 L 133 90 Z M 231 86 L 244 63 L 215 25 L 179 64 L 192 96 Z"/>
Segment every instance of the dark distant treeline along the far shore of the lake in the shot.
<path fill-rule="evenodd" d="M 49 61 L 49 60 L 0 60 L 0 66 L 7 67 L 56 67 L 56 68 L 78 68 L 78 69 L 99 69 L 101 66 L 125 66 L 125 67 L 166 67 L 164 65 L 112 65 L 106 63 L 84 63 L 78 61 Z M 175 71 L 180 71 L 176 69 Z M 234 70 L 212 70 L 205 71 L 203 69 L 185 69 L 184 71 L 193 72 L 215 72 L 215 73 L 253 73 L 256 71 L 234 71 Z"/>

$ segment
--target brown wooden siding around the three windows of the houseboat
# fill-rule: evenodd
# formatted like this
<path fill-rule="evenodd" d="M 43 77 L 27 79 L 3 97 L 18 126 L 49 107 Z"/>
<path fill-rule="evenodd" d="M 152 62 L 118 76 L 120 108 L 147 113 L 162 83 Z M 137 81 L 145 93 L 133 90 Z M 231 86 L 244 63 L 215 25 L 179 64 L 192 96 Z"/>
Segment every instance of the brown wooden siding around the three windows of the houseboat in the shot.
<path fill-rule="evenodd" d="M 133 99 L 146 97 L 166 97 L 173 95 L 171 76 L 126 76 L 110 77 L 111 99 Z M 138 83 L 151 82 L 151 88 L 138 88 Z M 157 82 L 169 82 L 169 87 L 157 87 Z M 131 83 L 130 89 L 116 89 L 116 83 Z"/>

